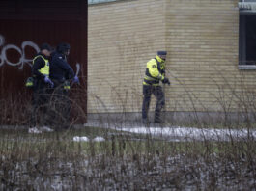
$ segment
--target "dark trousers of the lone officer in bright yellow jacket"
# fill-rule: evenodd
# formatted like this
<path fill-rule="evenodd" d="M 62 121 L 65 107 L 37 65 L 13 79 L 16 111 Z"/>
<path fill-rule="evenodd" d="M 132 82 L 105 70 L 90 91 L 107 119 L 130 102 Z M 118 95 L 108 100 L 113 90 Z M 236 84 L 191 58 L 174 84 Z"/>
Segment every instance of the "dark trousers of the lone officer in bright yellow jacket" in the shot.
<path fill-rule="evenodd" d="M 165 104 L 164 94 L 161 86 L 143 85 L 142 118 L 148 119 L 151 95 L 156 96 L 155 121 L 160 120 L 160 112 Z"/>

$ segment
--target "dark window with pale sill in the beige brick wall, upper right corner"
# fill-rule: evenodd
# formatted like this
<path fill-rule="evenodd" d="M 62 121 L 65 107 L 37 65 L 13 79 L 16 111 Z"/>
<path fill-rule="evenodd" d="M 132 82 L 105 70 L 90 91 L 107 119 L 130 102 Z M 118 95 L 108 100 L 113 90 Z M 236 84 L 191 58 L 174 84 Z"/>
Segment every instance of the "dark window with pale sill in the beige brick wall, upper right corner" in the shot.
<path fill-rule="evenodd" d="M 239 8 L 239 68 L 256 69 L 256 0 L 242 0 Z"/>

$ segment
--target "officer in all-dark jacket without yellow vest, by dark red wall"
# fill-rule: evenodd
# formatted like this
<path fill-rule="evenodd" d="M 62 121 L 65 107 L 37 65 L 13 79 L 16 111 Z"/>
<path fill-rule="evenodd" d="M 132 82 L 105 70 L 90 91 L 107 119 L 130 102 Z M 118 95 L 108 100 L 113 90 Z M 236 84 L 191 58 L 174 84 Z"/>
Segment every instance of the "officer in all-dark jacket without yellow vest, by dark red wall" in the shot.
<path fill-rule="evenodd" d="M 57 128 L 69 126 L 70 107 L 69 99 L 70 83 L 79 83 L 78 77 L 74 74 L 73 69 L 67 62 L 71 46 L 69 43 L 60 43 L 56 51 L 51 55 L 50 61 L 50 79 L 54 82 L 54 121 Z M 61 123 L 63 122 L 63 123 Z"/>

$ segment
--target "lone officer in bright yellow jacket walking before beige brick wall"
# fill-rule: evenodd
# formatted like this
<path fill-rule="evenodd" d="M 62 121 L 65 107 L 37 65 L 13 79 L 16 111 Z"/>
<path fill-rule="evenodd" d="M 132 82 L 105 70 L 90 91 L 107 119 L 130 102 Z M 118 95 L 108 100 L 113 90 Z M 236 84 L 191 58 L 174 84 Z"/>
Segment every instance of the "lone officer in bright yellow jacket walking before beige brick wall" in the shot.
<path fill-rule="evenodd" d="M 165 77 L 166 54 L 166 51 L 158 51 L 156 58 L 147 63 L 143 81 L 142 123 L 150 123 L 148 110 L 152 94 L 156 96 L 155 123 L 164 123 L 160 118 L 160 112 L 165 104 L 165 98 L 159 82 L 170 85 L 169 79 Z"/>

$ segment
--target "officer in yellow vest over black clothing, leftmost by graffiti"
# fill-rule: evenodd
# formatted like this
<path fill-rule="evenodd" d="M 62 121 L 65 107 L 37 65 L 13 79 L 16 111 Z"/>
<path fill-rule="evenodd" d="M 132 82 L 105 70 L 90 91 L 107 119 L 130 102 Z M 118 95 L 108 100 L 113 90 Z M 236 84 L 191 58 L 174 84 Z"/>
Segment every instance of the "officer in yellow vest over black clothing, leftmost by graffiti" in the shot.
<path fill-rule="evenodd" d="M 34 57 L 32 62 L 32 76 L 34 78 L 33 97 L 32 97 L 32 116 L 31 123 L 37 126 L 37 116 L 39 110 L 42 110 L 42 119 L 45 120 L 47 112 L 47 104 L 49 100 L 49 88 L 53 86 L 53 82 L 49 79 L 49 57 L 52 51 L 48 43 L 43 43 L 40 47 L 41 51 Z M 43 118 L 44 117 L 44 118 Z M 45 122 L 43 122 L 45 124 Z"/>

